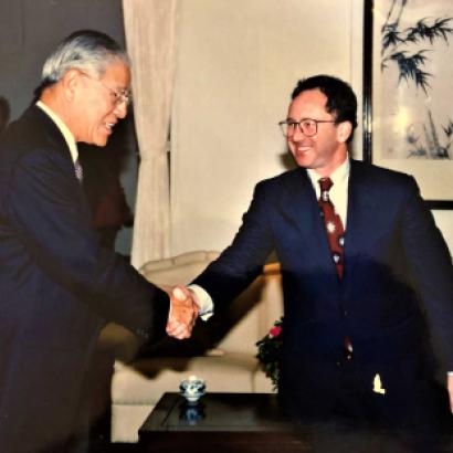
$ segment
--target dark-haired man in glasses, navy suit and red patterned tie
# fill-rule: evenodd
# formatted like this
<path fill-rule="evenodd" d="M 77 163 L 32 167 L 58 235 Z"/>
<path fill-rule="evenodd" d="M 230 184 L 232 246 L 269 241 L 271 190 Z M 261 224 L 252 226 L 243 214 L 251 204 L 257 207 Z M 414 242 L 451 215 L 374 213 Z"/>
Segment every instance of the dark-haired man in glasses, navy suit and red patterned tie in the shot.
<path fill-rule="evenodd" d="M 348 156 L 356 114 L 345 82 L 319 75 L 297 84 L 280 126 L 298 168 L 256 186 L 234 241 L 190 289 L 208 317 L 274 250 L 283 408 L 307 422 L 378 421 L 389 435 L 407 435 L 410 451 L 433 452 L 430 338 L 453 370 L 452 262 L 413 178 Z M 453 409 L 453 377 L 443 382 Z"/>

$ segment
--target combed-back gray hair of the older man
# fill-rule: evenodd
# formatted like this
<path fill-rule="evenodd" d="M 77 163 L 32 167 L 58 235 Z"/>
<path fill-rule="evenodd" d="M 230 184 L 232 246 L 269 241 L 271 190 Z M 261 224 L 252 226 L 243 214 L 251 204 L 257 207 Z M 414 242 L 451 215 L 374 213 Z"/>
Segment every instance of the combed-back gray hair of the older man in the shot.
<path fill-rule="evenodd" d="M 49 55 L 42 69 L 41 87 L 54 84 L 73 69 L 101 77 L 115 61 L 130 65 L 126 52 L 110 36 L 94 30 L 74 32 Z"/>

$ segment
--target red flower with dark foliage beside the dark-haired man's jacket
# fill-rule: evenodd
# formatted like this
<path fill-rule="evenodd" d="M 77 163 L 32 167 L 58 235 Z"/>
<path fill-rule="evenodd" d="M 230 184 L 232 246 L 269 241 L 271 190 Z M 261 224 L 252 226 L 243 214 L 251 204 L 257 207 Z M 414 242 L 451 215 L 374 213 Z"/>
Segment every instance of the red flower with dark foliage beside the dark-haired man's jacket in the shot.
<path fill-rule="evenodd" d="M 271 378 L 274 384 L 274 390 L 278 390 L 280 380 L 280 355 L 282 351 L 282 330 L 283 330 L 283 316 L 275 320 L 274 326 L 271 328 L 267 335 L 265 335 L 260 341 L 256 341 L 257 355 L 260 362 L 263 366 L 263 370 L 268 378 Z"/>

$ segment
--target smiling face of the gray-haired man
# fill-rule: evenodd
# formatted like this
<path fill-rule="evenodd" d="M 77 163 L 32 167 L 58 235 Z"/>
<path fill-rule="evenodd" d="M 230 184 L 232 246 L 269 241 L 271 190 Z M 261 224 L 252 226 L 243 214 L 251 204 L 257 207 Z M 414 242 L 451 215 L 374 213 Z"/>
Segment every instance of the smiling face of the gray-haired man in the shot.
<path fill-rule="evenodd" d="M 113 127 L 127 114 L 127 103 L 118 102 L 115 93 L 130 85 L 129 67 L 120 61 L 110 63 L 101 78 L 78 73 L 78 89 L 74 106 L 74 137 L 76 141 L 105 146 Z"/>

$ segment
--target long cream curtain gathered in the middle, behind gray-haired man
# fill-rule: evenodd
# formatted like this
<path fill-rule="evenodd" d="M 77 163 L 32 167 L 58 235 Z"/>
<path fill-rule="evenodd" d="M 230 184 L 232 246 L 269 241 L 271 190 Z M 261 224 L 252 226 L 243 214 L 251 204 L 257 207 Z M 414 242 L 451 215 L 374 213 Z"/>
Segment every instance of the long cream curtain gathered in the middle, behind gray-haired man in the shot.
<path fill-rule="evenodd" d="M 170 196 L 167 138 L 179 0 L 123 0 L 133 63 L 134 114 L 140 151 L 131 263 L 167 257 Z"/>

